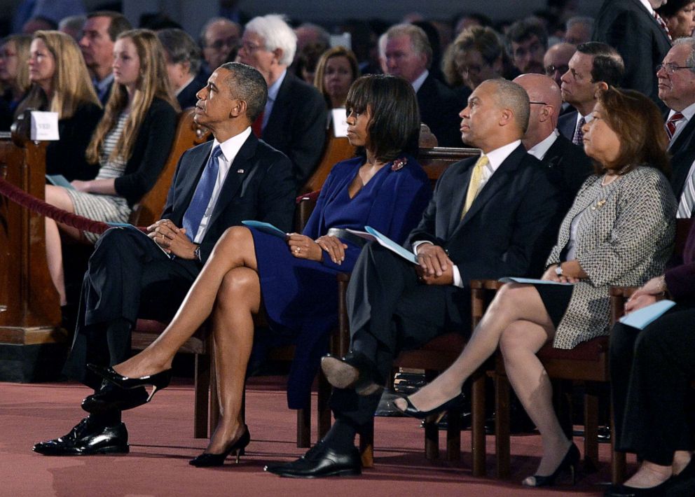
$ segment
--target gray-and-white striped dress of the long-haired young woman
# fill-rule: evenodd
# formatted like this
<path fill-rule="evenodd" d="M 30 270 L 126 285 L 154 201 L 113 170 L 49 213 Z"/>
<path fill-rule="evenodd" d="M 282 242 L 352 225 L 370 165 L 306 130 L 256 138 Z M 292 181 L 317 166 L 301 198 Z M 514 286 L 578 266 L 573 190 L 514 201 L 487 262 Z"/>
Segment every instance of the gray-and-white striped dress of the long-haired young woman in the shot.
<path fill-rule="evenodd" d="M 101 154 L 99 155 L 99 174 L 96 179 L 114 179 L 123 176 L 125 171 L 125 160 L 109 160 L 109 155 L 116 148 L 118 139 L 121 137 L 125 120 L 128 113 L 123 112 L 118 116 L 116 126 L 106 134 Z M 130 217 L 130 207 L 124 197 L 118 195 L 99 195 L 97 193 L 78 192 L 77 190 L 67 190 L 73 205 L 75 214 L 93 221 L 104 221 L 108 223 L 126 223 Z M 84 232 L 85 238 L 95 243 L 99 235 Z"/>

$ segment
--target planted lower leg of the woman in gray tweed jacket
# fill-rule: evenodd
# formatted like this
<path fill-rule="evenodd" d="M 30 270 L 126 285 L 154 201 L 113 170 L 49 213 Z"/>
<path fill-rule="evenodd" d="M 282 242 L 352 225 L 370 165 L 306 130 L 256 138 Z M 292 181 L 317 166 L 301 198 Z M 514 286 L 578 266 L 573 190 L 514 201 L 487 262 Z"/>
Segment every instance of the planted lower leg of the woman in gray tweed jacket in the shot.
<path fill-rule="evenodd" d="M 552 325 L 542 327 L 528 321 L 518 321 L 504 330 L 500 339 L 509 383 L 541 433 L 543 457 L 535 472 L 540 476 L 551 475 L 558 468 L 571 444 L 553 408 L 550 379 L 536 356 L 537 351 L 554 334 Z"/>

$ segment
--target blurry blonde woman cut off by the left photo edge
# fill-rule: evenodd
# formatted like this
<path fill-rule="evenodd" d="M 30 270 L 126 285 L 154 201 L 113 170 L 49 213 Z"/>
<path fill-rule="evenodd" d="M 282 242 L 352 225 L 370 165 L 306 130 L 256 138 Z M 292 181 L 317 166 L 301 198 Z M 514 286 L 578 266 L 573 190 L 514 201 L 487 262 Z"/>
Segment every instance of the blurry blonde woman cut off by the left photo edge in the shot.
<path fill-rule="evenodd" d="M 0 130 L 9 130 L 15 109 L 29 89 L 29 34 L 12 34 L 0 45 Z"/>

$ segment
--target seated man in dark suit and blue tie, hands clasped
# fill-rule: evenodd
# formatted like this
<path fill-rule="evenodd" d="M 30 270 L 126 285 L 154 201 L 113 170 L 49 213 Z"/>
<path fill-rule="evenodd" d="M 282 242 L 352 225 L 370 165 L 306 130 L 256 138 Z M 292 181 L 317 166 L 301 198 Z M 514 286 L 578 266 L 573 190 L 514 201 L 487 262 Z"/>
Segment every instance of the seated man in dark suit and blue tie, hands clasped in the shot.
<path fill-rule="evenodd" d="M 228 227 L 245 219 L 291 227 L 296 191 L 291 162 L 250 129 L 266 103 L 263 76 L 244 64 L 223 64 L 198 97 L 195 121 L 212 131 L 214 141 L 181 155 L 162 219 L 147 235 L 113 228 L 97 241 L 65 365 L 66 374 L 95 389 L 82 404 L 91 414 L 67 435 L 36 444 L 40 454 L 128 452 L 121 411 L 146 402 L 147 393 L 102 387 L 86 365 L 130 357 L 137 318 L 172 318 Z"/>

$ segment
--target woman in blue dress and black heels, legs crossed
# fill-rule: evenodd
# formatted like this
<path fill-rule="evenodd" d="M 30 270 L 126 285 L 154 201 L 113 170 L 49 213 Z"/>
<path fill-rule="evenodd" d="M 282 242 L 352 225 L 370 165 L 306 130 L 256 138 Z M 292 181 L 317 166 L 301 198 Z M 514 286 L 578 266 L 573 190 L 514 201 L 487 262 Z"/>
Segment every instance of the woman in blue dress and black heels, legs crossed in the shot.
<path fill-rule="evenodd" d="M 336 274 L 350 272 L 362 248 L 362 239 L 345 228 L 369 225 L 402 243 L 432 195 L 410 155 L 420 132 L 411 85 L 393 76 L 363 76 L 350 87 L 346 108 L 348 139 L 358 156 L 333 167 L 303 234 L 282 238 L 228 229 L 163 334 L 137 356 L 102 371 L 125 388 L 163 388 L 174 353 L 211 316 L 221 417 L 193 465 L 221 465 L 249 443 L 240 407 L 254 315 L 264 309 L 270 328 L 294 335 L 288 398 L 290 407 L 303 407 L 338 320 Z"/>

